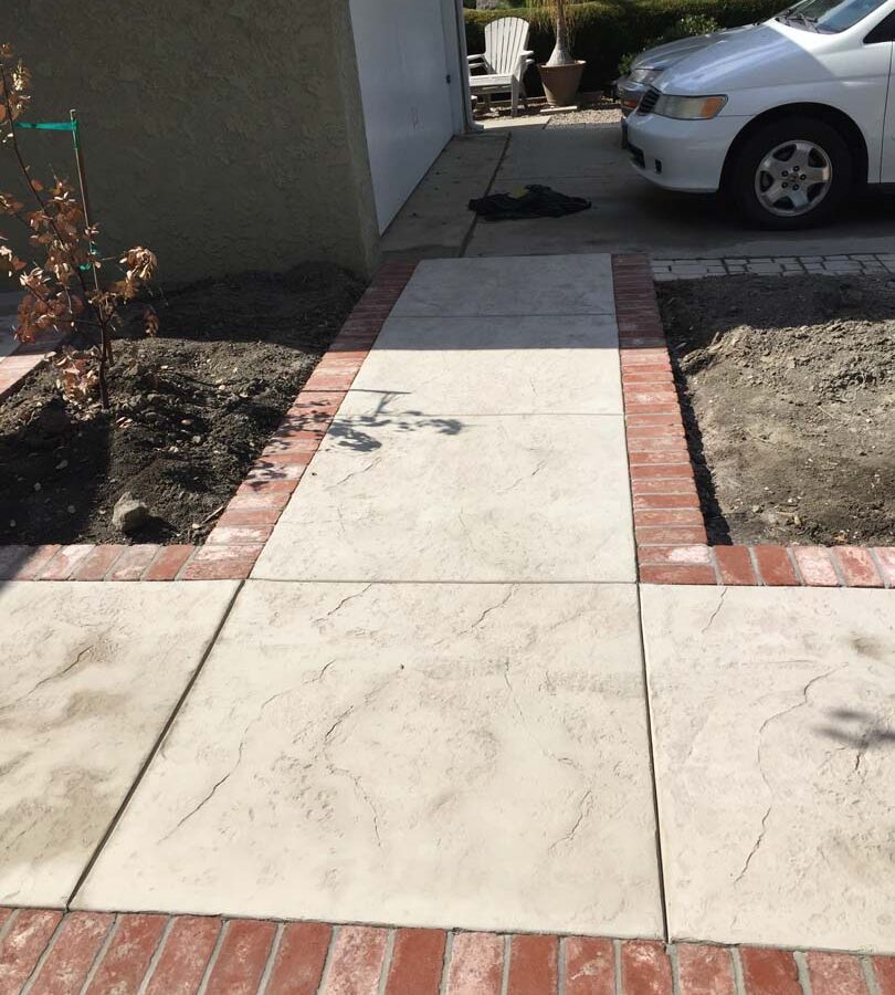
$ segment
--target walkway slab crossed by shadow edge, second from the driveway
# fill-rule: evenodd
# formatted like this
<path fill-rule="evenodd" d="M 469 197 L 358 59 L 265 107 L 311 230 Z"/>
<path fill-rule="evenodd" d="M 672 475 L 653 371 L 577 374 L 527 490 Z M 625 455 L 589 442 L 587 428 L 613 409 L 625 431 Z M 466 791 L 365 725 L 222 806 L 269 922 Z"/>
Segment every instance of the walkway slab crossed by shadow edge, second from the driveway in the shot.
<path fill-rule="evenodd" d="M 392 317 L 341 415 L 620 415 L 609 315 Z"/>

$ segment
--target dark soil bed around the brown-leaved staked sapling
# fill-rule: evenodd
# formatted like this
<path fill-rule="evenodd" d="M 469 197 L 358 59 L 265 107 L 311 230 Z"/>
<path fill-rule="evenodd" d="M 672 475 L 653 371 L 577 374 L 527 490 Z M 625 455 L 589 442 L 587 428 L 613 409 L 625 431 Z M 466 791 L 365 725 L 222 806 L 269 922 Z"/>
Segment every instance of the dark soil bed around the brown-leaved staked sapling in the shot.
<path fill-rule="evenodd" d="M 201 542 L 362 292 L 327 264 L 182 286 L 154 302 L 157 338 L 128 321 L 113 409 L 66 407 L 44 364 L 0 404 L 0 544 L 127 540 L 129 491 L 150 509 L 134 542 Z"/>

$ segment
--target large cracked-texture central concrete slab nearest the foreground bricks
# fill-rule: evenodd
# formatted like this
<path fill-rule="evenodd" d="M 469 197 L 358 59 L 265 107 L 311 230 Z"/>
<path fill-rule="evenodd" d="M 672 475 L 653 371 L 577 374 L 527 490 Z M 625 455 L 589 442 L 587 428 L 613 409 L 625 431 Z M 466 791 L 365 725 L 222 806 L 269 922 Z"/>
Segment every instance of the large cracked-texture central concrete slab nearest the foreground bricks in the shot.
<path fill-rule="evenodd" d="M 249 582 L 75 905 L 655 936 L 633 586 Z"/>

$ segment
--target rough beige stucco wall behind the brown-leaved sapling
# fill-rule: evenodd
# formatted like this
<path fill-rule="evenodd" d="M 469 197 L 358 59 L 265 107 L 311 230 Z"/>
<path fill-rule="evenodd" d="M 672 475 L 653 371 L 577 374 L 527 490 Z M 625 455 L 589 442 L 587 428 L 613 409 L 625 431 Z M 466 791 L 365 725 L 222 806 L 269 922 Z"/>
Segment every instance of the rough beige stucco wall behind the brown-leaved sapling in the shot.
<path fill-rule="evenodd" d="M 101 249 L 149 245 L 168 280 L 306 259 L 369 272 L 348 0 L 3 0 L 0 41 L 34 74 L 31 119 L 78 109 Z M 67 136 L 22 142 L 35 175 L 73 176 Z"/>

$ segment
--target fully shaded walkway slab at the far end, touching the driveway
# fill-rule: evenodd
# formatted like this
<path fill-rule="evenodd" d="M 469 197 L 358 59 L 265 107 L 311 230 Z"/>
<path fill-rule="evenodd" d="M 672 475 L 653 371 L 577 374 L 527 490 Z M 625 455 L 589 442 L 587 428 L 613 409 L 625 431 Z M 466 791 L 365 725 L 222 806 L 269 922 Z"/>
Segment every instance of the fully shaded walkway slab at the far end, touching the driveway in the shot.
<path fill-rule="evenodd" d="M 508 223 L 508 222 L 507 222 Z M 610 255 L 420 263 L 397 317 L 614 314 Z"/>

